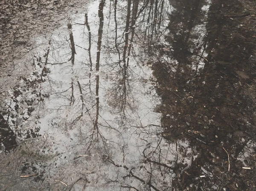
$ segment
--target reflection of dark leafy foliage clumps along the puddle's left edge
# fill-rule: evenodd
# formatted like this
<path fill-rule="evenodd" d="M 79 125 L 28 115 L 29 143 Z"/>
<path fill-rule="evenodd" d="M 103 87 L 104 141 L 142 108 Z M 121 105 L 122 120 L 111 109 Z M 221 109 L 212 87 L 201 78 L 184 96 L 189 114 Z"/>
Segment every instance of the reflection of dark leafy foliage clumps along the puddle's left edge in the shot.
<path fill-rule="evenodd" d="M 49 41 L 49 46 L 51 46 L 51 41 Z M 38 119 L 35 119 L 31 125 L 27 124 L 32 115 L 38 115 L 44 109 L 44 100 L 49 97 L 49 94 L 41 89 L 41 85 L 46 82 L 50 72 L 47 67 L 49 50 L 50 48 L 43 57 L 34 56 L 32 73 L 28 76 L 20 76 L 19 79 L 23 85 L 15 86 L 9 91 L 10 99 L 6 102 L 6 111 L 0 115 L 0 140 L 3 141 L 6 151 L 16 146 L 16 138 L 38 137 L 40 130 L 37 124 Z"/>

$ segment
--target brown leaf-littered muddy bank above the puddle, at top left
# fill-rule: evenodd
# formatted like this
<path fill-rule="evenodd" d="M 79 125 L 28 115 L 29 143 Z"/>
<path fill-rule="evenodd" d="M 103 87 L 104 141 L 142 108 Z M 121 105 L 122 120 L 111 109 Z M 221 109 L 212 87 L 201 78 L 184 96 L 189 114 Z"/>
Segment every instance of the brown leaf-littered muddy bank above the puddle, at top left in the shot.
<path fill-rule="evenodd" d="M 1 77 L 4 77 L 1 91 L 18 83 L 12 76 L 29 74 L 31 67 L 25 62 L 38 52 L 38 46 L 47 45 L 52 31 L 69 20 L 73 13 L 83 11 L 86 4 L 87 1 L 76 0 L 0 2 L 0 63 Z M 17 67 L 26 70 L 15 73 Z"/>

